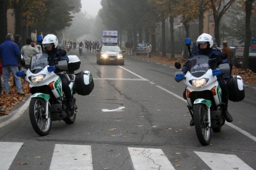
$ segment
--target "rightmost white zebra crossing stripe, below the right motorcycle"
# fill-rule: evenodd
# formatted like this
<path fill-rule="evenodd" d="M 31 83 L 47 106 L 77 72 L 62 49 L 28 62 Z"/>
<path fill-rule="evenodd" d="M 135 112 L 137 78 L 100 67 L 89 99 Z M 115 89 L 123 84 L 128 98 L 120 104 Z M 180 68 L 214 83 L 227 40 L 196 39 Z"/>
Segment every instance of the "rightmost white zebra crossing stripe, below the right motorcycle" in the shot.
<path fill-rule="evenodd" d="M 236 155 L 194 151 L 212 170 L 243 169 L 253 170 Z"/>

